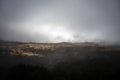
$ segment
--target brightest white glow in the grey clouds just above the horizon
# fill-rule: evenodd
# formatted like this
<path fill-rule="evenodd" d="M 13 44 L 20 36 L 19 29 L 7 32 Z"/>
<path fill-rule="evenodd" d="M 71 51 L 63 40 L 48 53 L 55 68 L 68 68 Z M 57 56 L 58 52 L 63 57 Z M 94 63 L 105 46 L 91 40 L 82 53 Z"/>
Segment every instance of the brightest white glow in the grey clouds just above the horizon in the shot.
<path fill-rule="evenodd" d="M 51 42 L 73 42 L 74 38 L 72 32 L 68 31 L 64 26 L 54 24 L 37 25 L 35 32 L 38 34 L 47 35 Z"/>

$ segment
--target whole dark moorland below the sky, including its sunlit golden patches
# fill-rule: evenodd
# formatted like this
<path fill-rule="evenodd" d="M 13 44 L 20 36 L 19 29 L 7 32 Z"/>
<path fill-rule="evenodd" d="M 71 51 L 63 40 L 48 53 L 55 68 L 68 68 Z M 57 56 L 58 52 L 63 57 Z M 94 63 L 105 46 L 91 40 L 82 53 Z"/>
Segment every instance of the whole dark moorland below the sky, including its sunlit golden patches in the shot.
<path fill-rule="evenodd" d="M 120 47 L 92 44 L 4 43 L 0 80 L 120 80 Z"/>

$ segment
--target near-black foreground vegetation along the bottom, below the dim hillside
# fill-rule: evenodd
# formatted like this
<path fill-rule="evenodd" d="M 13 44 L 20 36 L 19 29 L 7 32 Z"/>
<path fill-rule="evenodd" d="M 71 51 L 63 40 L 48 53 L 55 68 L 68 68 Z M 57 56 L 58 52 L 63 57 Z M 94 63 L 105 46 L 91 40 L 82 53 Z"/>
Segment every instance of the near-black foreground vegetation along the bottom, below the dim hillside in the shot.
<path fill-rule="evenodd" d="M 0 67 L 0 80 L 120 80 L 117 63 L 98 60 L 59 65 L 52 70 L 33 65 Z"/>

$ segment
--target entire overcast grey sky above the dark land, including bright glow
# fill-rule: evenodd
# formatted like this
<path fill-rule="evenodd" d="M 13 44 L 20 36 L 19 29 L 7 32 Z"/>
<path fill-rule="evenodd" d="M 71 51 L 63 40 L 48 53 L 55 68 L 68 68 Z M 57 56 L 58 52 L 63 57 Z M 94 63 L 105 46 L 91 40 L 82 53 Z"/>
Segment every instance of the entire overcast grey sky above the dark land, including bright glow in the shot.
<path fill-rule="evenodd" d="M 0 0 L 0 39 L 120 42 L 120 0 Z"/>

